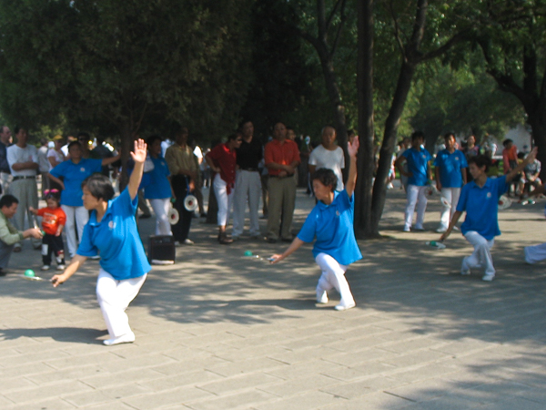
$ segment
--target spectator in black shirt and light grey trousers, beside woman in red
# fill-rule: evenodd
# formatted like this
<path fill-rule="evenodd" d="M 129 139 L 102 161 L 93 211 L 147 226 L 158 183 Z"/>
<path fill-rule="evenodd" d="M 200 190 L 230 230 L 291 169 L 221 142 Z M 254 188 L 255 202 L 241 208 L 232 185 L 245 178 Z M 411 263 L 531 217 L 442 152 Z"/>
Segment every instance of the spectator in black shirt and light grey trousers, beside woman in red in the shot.
<path fill-rule="evenodd" d="M 243 234 L 245 229 L 245 210 L 248 201 L 250 218 L 250 237 L 258 239 L 258 207 L 261 193 L 261 180 L 258 164 L 263 158 L 262 145 L 254 138 L 254 124 L 245 121 L 241 127 L 242 141 L 237 151 L 237 176 L 233 202 L 233 240 Z"/>

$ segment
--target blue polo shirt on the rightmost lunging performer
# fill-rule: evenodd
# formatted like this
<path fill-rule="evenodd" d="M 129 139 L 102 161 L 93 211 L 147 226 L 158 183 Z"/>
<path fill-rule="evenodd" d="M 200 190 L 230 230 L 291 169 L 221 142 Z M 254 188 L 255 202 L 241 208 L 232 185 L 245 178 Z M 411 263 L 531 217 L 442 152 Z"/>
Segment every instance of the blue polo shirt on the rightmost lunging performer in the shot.
<path fill-rule="evenodd" d="M 501 235 L 499 229 L 499 198 L 508 190 L 506 177 L 485 181 L 482 188 L 471 181 L 460 190 L 457 210 L 466 210 L 466 219 L 460 225 L 463 235 L 468 231 L 477 231 L 482 237 L 490 241 Z"/>

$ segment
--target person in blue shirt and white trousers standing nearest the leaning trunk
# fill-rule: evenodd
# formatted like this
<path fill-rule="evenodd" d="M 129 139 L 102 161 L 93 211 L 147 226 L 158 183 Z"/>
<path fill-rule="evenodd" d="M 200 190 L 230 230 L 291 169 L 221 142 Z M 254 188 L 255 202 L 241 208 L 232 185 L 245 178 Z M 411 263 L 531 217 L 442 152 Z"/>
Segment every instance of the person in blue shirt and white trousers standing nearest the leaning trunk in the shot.
<path fill-rule="evenodd" d="M 399 173 L 408 177 L 407 202 L 404 218 L 404 231 L 411 231 L 413 212 L 417 205 L 417 221 L 415 231 L 424 231 L 425 210 L 427 210 L 427 197 L 425 190 L 427 184 L 432 182 L 432 171 L 430 169 L 429 151 L 422 147 L 425 142 L 425 135 L 421 131 L 411 134 L 411 148 L 406 149 L 395 165 Z M 408 171 L 404 170 L 404 162 L 408 162 Z"/>

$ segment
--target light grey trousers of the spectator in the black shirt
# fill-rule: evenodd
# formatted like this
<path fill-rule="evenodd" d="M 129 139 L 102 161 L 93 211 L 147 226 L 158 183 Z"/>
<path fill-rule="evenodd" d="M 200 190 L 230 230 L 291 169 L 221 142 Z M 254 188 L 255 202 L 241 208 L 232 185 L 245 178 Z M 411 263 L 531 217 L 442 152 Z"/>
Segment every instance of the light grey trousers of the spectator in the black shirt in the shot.
<path fill-rule="evenodd" d="M 261 195 L 261 179 L 258 171 L 239 169 L 233 194 L 233 236 L 242 235 L 245 230 L 245 210 L 250 216 L 250 235 L 259 235 L 258 207 Z"/>

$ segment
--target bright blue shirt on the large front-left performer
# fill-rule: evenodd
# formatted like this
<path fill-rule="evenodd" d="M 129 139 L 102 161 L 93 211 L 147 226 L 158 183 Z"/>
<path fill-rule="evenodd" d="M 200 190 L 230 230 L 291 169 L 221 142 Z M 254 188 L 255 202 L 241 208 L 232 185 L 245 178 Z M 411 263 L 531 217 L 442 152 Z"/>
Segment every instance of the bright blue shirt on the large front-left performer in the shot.
<path fill-rule="evenodd" d="M 131 200 L 128 189 L 108 201 L 103 219 L 96 221 L 96 210 L 84 228 L 77 254 L 96 256 L 100 251 L 100 266 L 116 281 L 137 278 L 152 270 L 144 246 L 136 230 L 138 196 Z"/>

